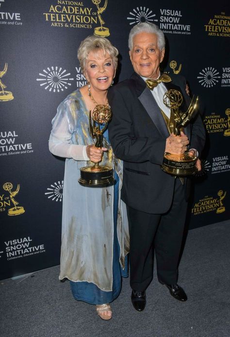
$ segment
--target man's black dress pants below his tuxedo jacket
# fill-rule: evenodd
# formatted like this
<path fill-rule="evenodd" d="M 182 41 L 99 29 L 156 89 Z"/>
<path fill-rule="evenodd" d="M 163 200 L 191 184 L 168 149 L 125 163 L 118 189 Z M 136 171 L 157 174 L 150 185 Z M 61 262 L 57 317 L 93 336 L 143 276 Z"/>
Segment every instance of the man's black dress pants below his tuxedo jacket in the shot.
<path fill-rule="evenodd" d="M 170 209 L 164 214 L 149 214 L 127 207 L 130 230 L 130 285 L 145 291 L 153 276 L 154 250 L 158 280 L 178 281 L 178 260 L 187 211 L 184 186 L 175 179 Z"/>

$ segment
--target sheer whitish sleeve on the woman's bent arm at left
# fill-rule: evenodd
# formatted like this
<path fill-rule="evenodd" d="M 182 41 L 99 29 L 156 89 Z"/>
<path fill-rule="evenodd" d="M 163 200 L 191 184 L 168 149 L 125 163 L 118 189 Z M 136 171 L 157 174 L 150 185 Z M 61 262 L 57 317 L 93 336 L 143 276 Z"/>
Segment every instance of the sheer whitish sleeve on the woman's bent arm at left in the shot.
<path fill-rule="evenodd" d="M 49 151 L 59 157 L 88 161 L 86 145 L 73 144 L 72 137 L 77 125 L 77 112 L 74 100 L 62 102 L 52 119 L 49 136 Z"/>

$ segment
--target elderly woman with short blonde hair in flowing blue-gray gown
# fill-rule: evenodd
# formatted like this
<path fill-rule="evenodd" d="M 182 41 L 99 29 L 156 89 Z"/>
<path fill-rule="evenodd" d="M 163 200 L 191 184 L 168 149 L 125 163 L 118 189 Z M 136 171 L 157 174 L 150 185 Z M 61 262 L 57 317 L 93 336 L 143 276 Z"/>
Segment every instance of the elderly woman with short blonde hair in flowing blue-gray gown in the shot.
<path fill-rule="evenodd" d="M 89 111 L 107 105 L 118 51 L 103 37 L 86 37 L 78 58 L 87 85 L 68 95 L 52 120 L 49 150 L 65 157 L 60 279 L 68 278 L 76 300 L 96 304 L 99 317 L 112 317 L 112 302 L 127 276 L 128 221 L 120 200 L 122 163 L 113 154 L 108 132 L 96 148 L 89 133 Z M 109 107 L 110 108 L 110 107 Z M 86 187 L 80 169 L 93 163 L 113 167 L 115 185 Z"/>

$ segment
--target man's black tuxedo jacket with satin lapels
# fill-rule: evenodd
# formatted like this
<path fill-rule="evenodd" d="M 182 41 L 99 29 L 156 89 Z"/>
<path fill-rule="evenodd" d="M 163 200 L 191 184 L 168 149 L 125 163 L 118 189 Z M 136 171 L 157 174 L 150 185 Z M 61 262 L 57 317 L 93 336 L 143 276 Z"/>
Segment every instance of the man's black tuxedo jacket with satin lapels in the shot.
<path fill-rule="evenodd" d="M 180 88 L 166 83 L 167 89 Z M 181 90 L 180 90 L 181 91 Z M 188 97 L 182 111 L 187 110 Z M 109 138 L 115 156 L 124 161 L 122 200 L 130 207 L 155 214 L 168 211 L 175 177 L 161 169 L 165 141 L 169 136 L 162 113 L 145 81 L 134 73 L 108 92 L 113 118 L 109 123 Z M 202 151 L 205 131 L 199 115 L 185 128 L 190 149 Z M 185 182 L 185 198 L 189 187 Z"/>

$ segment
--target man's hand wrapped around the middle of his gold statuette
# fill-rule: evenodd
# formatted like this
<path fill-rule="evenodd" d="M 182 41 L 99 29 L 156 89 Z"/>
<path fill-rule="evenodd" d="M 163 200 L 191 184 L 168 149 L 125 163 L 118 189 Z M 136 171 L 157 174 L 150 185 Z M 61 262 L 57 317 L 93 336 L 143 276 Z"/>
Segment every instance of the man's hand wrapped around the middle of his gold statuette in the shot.
<path fill-rule="evenodd" d="M 188 137 L 181 131 L 181 136 L 171 134 L 166 139 L 165 151 L 172 154 L 183 154 L 187 150 L 189 144 Z"/>

